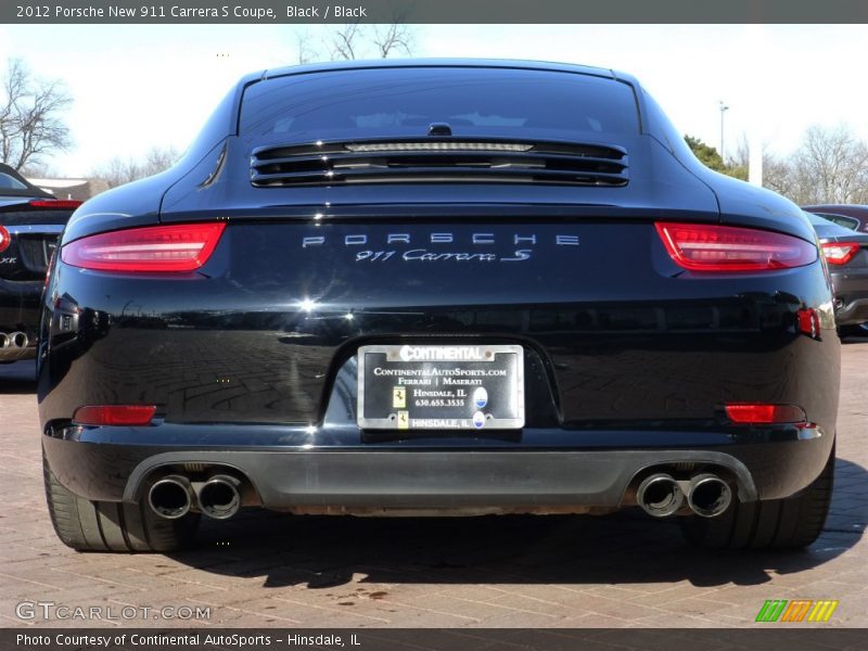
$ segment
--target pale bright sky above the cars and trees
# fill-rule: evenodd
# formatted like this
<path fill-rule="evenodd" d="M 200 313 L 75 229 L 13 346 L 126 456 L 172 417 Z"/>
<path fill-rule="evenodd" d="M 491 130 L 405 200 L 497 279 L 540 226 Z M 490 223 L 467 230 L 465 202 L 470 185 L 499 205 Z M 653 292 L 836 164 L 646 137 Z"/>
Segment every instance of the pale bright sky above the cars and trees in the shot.
<path fill-rule="evenodd" d="M 243 74 L 293 64 L 293 25 L 0 25 L 0 64 L 23 59 L 74 99 L 74 144 L 44 161 L 87 176 L 114 156 L 183 151 Z M 812 125 L 868 140 L 868 25 L 418 25 L 416 56 L 580 63 L 638 77 L 682 132 L 727 155 L 749 133 L 786 156 Z"/>

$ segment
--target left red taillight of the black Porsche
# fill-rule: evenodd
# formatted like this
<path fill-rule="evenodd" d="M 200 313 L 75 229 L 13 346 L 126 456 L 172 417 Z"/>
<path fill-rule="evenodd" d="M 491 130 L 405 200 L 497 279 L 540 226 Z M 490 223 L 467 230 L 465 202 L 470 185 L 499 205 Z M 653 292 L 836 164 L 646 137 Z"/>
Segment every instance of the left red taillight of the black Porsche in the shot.
<path fill-rule="evenodd" d="M 214 253 L 225 227 L 183 224 L 101 233 L 71 242 L 61 259 L 102 271 L 193 271 Z"/>

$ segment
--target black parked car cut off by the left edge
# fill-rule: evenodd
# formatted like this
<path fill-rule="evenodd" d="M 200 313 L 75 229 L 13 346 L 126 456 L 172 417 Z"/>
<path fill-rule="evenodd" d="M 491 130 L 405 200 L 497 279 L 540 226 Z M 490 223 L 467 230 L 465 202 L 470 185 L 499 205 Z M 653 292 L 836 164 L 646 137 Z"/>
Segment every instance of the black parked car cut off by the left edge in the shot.
<path fill-rule="evenodd" d="M 0 363 L 36 355 L 46 271 L 80 203 L 58 200 L 0 164 Z"/>

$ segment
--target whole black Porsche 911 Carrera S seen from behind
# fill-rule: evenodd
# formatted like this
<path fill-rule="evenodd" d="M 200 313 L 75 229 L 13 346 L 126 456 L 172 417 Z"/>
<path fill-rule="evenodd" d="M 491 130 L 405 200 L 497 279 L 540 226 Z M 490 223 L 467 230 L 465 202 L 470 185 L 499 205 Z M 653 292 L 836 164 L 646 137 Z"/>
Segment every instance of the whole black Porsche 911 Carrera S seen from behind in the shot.
<path fill-rule="evenodd" d="M 817 238 L 627 75 L 259 72 L 61 245 L 39 407 L 76 549 L 175 549 L 245 506 L 638 506 L 731 548 L 821 531 L 840 341 Z"/>

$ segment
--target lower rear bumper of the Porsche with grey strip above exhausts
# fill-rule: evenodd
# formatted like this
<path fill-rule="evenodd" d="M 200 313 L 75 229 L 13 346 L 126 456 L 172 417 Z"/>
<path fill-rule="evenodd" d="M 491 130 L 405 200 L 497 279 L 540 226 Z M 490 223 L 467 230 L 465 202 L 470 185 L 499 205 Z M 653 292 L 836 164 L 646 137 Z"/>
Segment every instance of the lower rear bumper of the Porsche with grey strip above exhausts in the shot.
<path fill-rule="evenodd" d="M 302 512 L 618 508 L 635 503 L 637 477 L 661 467 L 684 476 L 713 470 L 738 487 L 743 501 L 774 499 L 801 490 L 819 475 L 833 438 L 818 429 L 784 426 L 740 436 L 525 430 L 518 441 L 499 445 L 458 438 L 438 445 L 424 438 L 411 445 L 301 443 L 320 436 L 340 444 L 353 435 L 349 429 L 324 430 L 69 426 L 42 438 L 54 474 L 88 499 L 139 501 L 155 476 L 204 468 L 243 475 L 254 496 L 247 503 Z M 242 436 L 257 445 L 240 445 Z M 576 441 L 564 445 L 566 436 Z M 562 443 L 553 447 L 558 438 Z M 637 446 L 640 438 L 646 446 Z"/>

